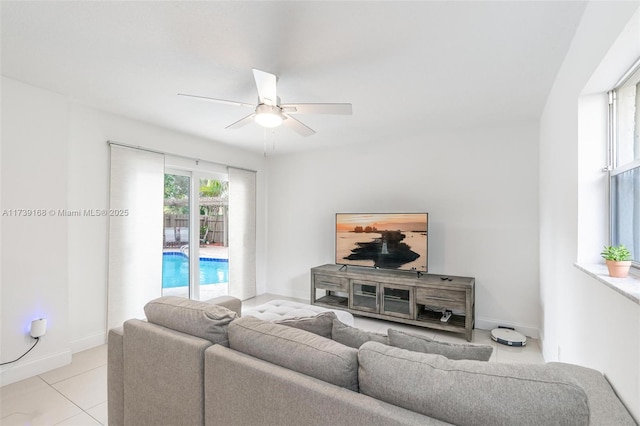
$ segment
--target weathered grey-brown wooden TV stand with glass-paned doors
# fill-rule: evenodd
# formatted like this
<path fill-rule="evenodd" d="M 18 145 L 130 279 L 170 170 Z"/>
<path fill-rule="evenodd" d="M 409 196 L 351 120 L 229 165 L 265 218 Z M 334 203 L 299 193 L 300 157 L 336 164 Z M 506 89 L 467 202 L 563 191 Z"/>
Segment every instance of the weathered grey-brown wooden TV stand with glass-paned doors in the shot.
<path fill-rule="evenodd" d="M 471 341 L 475 279 L 345 265 L 311 269 L 311 304 L 353 315 L 462 333 Z M 320 297 L 318 295 L 320 294 Z M 448 321 L 440 319 L 445 311 Z"/>

